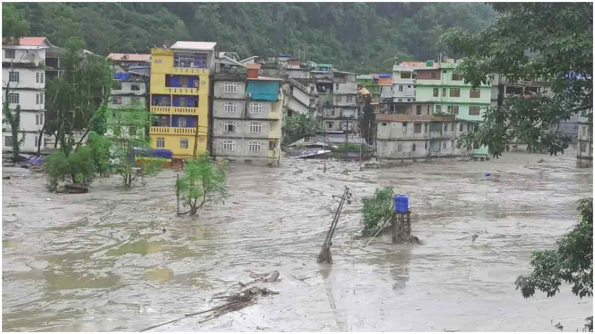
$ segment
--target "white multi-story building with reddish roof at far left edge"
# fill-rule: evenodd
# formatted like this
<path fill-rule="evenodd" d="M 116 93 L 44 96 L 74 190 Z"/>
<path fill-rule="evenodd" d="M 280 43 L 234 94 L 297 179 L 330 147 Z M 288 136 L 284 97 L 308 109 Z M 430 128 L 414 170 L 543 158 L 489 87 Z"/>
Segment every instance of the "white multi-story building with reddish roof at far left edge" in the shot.
<path fill-rule="evenodd" d="M 4 102 L 8 93 L 8 108 L 11 111 L 17 106 L 21 108 L 20 133 L 24 136 L 21 152 L 37 152 L 45 122 L 46 49 L 52 47 L 45 37 L 21 37 L 18 42 L 5 40 L 2 44 L 2 99 Z M 20 136 L 12 138 L 10 125 L 4 122 L 2 137 L 2 150 L 12 150 L 13 141 L 22 140 Z"/>

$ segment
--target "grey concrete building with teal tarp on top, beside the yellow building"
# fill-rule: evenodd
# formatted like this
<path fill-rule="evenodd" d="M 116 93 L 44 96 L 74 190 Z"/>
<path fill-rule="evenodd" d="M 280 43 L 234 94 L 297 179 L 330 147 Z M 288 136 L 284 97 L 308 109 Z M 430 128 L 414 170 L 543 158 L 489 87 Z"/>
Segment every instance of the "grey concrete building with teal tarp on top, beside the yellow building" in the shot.
<path fill-rule="evenodd" d="M 259 64 L 215 72 L 212 153 L 217 158 L 278 165 L 283 79 L 259 75 Z"/>

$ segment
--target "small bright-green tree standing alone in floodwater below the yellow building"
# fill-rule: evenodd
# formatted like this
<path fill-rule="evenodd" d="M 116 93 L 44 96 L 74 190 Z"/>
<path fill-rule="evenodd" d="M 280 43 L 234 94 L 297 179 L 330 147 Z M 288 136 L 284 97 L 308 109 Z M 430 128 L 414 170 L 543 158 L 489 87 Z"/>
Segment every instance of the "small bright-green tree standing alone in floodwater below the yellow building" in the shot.
<path fill-rule="evenodd" d="M 205 203 L 224 202 L 230 196 L 227 191 L 228 172 L 227 164 L 216 162 L 209 152 L 187 162 L 184 175 L 176 184 L 184 206 L 190 207 L 188 212 L 182 214 L 196 215 Z"/>

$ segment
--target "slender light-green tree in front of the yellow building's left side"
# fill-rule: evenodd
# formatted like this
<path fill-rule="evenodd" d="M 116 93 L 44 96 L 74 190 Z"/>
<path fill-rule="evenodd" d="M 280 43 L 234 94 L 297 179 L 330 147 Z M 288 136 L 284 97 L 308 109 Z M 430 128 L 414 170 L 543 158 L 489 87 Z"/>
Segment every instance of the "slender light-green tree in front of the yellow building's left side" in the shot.
<path fill-rule="evenodd" d="M 117 109 L 107 109 L 107 137 L 111 140 L 110 169 L 123 179 L 123 185 L 130 188 L 140 178 L 158 175 L 164 159 L 142 159 L 136 164 L 136 152 L 151 150 L 145 129 L 151 125 L 149 111 L 139 103 L 130 103 Z"/>

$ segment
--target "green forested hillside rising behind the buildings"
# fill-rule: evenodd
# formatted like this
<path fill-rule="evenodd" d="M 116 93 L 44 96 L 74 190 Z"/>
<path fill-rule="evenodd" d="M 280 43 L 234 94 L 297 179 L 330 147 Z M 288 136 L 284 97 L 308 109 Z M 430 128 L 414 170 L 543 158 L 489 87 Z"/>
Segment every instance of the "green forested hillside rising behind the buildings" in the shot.
<path fill-rule="evenodd" d="M 4 7 L 7 4 L 3 4 Z M 240 56 L 305 51 L 313 61 L 361 73 L 389 71 L 398 60 L 436 58 L 450 27 L 491 23 L 486 4 L 465 3 L 16 3 L 30 36 L 86 48 L 149 52 L 165 40 L 209 40 Z"/>

